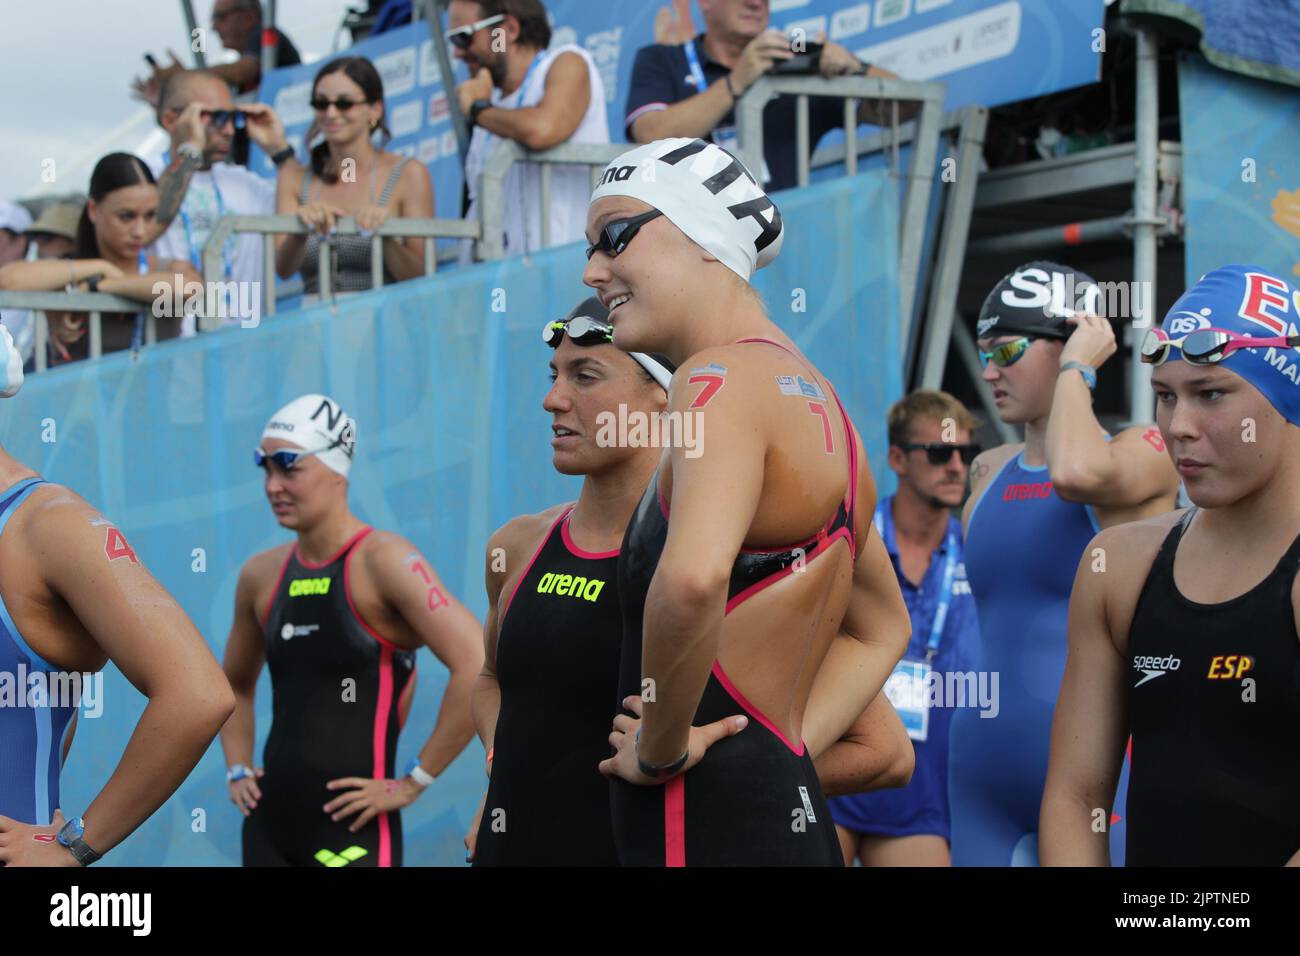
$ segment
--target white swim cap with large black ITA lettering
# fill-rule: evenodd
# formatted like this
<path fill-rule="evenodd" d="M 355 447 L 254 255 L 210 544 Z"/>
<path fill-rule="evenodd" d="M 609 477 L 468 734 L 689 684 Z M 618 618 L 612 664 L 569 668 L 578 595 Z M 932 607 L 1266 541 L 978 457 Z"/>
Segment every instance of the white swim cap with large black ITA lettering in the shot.
<path fill-rule="evenodd" d="M 744 278 L 776 259 L 785 239 L 781 213 L 745 164 L 703 139 L 659 139 L 604 168 L 592 202 L 630 196 Z"/>

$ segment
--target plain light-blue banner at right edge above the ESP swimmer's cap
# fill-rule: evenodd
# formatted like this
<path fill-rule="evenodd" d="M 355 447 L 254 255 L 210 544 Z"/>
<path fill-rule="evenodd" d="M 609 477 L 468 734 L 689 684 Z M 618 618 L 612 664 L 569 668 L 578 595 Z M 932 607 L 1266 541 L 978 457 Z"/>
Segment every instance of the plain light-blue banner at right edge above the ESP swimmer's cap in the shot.
<path fill-rule="evenodd" d="M 1178 66 L 1187 284 L 1234 263 L 1300 277 L 1300 98 L 1290 86 Z"/>

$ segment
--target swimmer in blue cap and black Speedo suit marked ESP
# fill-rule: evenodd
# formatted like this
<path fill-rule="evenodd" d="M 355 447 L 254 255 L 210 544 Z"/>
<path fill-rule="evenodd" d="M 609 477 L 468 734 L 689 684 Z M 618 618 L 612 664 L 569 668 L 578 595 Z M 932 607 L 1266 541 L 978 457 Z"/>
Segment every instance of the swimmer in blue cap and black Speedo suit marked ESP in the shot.
<path fill-rule="evenodd" d="M 1131 866 L 1300 866 L 1300 290 L 1205 274 L 1147 333 L 1156 419 L 1192 507 L 1080 562 L 1043 797 L 1043 860 L 1089 830 L 1132 740 Z"/>

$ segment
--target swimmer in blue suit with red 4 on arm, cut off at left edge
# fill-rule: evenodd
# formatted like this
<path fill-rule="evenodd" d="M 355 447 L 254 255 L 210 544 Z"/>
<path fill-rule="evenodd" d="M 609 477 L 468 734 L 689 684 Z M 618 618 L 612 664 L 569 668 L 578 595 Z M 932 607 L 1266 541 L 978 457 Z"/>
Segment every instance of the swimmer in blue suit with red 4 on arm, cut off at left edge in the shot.
<path fill-rule="evenodd" d="M 0 399 L 21 386 L 0 326 Z M 87 866 L 176 792 L 234 697 L 203 636 L 113 522 L 3 447 L 0 568 L 0 868 Z M 78 708 L 90 704 L 84 682 L 101 691 L 108 662 L 147 706 L 103 790 L 70 808 L 60 778 Z"/>

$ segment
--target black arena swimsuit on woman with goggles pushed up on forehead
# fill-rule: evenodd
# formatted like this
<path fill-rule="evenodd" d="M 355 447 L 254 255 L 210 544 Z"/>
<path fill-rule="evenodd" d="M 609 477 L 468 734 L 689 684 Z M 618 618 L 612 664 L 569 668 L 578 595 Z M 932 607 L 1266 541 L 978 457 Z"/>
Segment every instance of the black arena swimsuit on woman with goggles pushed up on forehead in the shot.
<path fill-rule="evenodd" d="M 500 710 L 474 866 L 616 866 L 610 701 L 618 689 L 618 551 L 551 525 L 500 613 Z"/>

